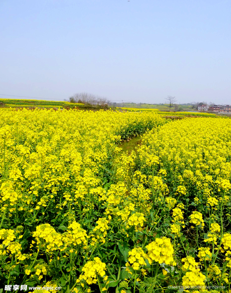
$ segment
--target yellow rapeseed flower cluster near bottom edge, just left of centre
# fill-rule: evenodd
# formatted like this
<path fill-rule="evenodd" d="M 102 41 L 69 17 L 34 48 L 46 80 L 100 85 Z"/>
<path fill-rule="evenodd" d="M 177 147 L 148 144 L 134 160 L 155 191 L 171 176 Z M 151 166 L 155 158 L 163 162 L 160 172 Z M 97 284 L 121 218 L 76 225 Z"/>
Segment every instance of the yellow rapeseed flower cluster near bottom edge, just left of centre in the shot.
<path fill-rule="evenodd" d="M 82 268 L 83 274 L 79 276 L 80 281 L 86 281 L 88 285 L 96 284 L 97 277 L 104 277 L 106 271 L 106 264 L 96 257 L 94 260 L 88 261 Z M 106 279 L 106 277 L 104 277 Z"/>

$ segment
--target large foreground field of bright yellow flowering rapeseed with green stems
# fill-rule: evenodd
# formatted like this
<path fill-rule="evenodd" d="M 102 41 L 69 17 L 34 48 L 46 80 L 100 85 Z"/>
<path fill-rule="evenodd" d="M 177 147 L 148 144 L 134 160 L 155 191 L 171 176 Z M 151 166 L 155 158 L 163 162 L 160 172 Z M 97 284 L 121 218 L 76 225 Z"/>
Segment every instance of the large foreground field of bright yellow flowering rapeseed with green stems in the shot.
<path fill-rule="evenodd" d="M 230 119 L 0 110 L 0 146 L 4 285 L 230 291 Z"/>

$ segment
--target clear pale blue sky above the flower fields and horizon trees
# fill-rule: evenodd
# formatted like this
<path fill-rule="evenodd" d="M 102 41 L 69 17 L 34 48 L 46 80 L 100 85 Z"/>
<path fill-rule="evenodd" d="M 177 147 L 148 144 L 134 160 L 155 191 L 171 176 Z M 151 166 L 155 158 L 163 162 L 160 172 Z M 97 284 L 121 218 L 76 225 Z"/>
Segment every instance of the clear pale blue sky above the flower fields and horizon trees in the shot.
<path fill-rule="evenodd" d="M 231 104 L 230 11 L 230 0 L 0 0 L 0 94 Z"/>

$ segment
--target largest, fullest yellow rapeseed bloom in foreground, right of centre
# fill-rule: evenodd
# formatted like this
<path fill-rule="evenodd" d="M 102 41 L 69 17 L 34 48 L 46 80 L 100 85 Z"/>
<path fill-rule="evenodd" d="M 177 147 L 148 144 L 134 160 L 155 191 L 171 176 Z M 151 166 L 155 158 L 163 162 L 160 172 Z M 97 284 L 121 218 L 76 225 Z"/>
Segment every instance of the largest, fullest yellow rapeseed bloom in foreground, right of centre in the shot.
<path fill-rule="evenodd" d="M 157 238 L 155 241 L 146 246 L 148 250 L 148 261 L 151 264 L 153 260 L 159 263 L 166 263 L 166 265 L 174 265 L 173 253 L 174 249 L 171 241 L 167 237 Z"/>

